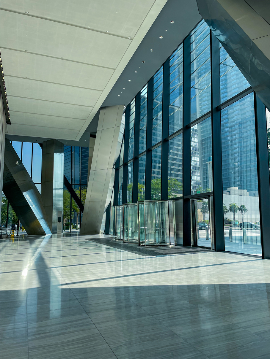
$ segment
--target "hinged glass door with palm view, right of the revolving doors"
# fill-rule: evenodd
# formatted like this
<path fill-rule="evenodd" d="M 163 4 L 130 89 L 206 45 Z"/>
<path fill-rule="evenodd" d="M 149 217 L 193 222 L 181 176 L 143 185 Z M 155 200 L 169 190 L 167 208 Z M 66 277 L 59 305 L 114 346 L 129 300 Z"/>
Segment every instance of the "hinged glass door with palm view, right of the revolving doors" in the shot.
<path fill-rule="evenodd" d="M 211 197 L 192 200 L 194 244 L 213 248 L 211 241 Z"/>

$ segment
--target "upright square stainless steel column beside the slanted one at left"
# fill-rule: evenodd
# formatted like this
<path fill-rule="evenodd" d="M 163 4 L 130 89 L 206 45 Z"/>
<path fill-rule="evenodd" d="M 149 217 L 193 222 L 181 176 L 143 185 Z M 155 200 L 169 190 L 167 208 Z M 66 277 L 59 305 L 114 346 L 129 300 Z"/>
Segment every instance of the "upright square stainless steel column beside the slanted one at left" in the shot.
<path fill-rule="evenodd" d="M 58 212 L 63 213 L 64 145 L 57 140 L 42 144 L 41 198 L 51 233 L 62 233 Z"/>

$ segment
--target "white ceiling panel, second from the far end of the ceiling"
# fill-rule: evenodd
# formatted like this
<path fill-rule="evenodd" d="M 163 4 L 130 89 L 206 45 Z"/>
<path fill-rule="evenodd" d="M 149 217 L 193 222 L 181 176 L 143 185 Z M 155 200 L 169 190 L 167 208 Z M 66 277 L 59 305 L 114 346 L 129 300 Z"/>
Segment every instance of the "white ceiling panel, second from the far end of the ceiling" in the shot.
<path fill-rule="evenodd" d="M 68 130 L 74 129 L 74 122 L 77 123 L 78 128 L 84 124 L 85 120 L 78 120 L 77 118 L 68 118 L 68 117 L 57 117 L 57 116 L 47 116 L 40 115 L 35 113 L 24 113 L 24 112 L 14 112 L 10 111 L 10 121 L 14 125 L 30 125 L 30 126 L 41 126 L 41 127 L 58 127 Z"/>

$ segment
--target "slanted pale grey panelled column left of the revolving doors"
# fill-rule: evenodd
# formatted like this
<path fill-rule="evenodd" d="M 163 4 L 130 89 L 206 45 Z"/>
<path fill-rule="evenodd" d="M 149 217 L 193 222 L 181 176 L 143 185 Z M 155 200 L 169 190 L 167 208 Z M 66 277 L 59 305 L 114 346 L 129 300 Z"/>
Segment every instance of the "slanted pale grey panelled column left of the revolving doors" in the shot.
<path fill-rule="evenodd" d="M 111 197 L 113 164 L 124 106 L 100 109 L 80 234 L 99 234 Z"/>

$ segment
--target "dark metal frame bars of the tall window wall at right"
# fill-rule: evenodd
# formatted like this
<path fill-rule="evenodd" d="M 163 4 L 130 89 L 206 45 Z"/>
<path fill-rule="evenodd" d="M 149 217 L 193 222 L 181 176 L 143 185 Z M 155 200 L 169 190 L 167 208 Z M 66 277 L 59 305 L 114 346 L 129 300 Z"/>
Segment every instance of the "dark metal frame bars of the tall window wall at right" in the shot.
<path fill-rule="evenodd" d="M 203 20 L 200 20 L 200 22 Z M 200 23 L 199 22 L 199 23 Z M 198 23 L 198 24 L 199 24 Z M 198 26 L 194 27 L 194 29 Z M 193 30 L 194 30 L 193 29 Z M 193 31 L 192 30 L 192 31 Z M 190 32 L 191 33 L 191 32 Z M 207 35 L 208 36 L 208 35 Z M 179 46 L 181 43 L 179 44 Z M 123 167 L 123 188 L 125 178 L 124 169 L 127 164 L 138 160 L 139 157 L 146 156 L 145 168 L 145 200 L 151 199 L 151 178 L 152 178 L 152 151 L 157 147 L 162 148 L 162 162 L 161 162 L 161 198 L 168 198 L 168 141 L 172 138 L 183 134 L 183 197 L 176 199 L 183 200 L 183 227 L 184 227 L 184 246 L 191 245 L 191 200 L 200 199 L 205 196 L 213 196 L 213 228 L 215 231 L 215 251 L 225 251 L 224 244 L 224 216 L 223 216 L 223 191 L 222 191 L 222 163 L 221 163 L 221 110 L 230 106 L 239 99 L 247 96 L 253 92 L 251 87 L 243 90 L 230 99 L 220 103 L 220 56 L 219 56 L 219 41 L 210 29 L 210 51 L 211 51 L 211 111 L 198 117 L 194 121 L 190 121 L 190 34 L 183 41 L 183 127 L 173 134 L 168 135 L 168 110 L 170 97 L 170 57 L 164 62 L 163 66 L 163 93 L 162 93 L 162 140 L 157 144 L 152 145 L 152 121 L 153 121 L 153 79 L 148 81 L 148 106 L 147 106 L 147 134 L 146 134 L 146 150 L 138 154 L 134 150 L 134 158 L 127 161 L 128 143 L 124 146 L 124 164 L 119 166 L 116 163 L 116 174 L 121 167 Z M 177 48 L 179 47 L 177 46 Z M 177 50 L 172 52 L 172 54 Z M 172 55 L 171 54 L 171 55 Z M 162 67 L 161 66 L 161 67 Z M 160 68 L 161 68 L 160 67 Z M 159 68 L 159 70 L 160 70 Z M 158 71 L 159 71 L 158 70 Z M 157 72 L 158 72 L 157 71 Z M 140 92 L 139 92 L 140 94 Z M 135 100 L 135 108 L 136 101 Z M 136 132 L 136 117 L 138 113 L 135 111 L 135 132 Z M 213 190 L 201 194 L 191 195 L 191 174 L 190 174 L 190 134 L 191 128 L 198 123 L 211 117 L 212 124 L 212 163 L 213 163 Z M 138 118 L 137 118 L 138 121 Z M 129 121 L 128 121 L 129 125 Z M 260 201 L 260 218 L 261 218 L 261 239 L 262 239 L 262 257 L 270 258 L 270 222 L 269 222 L 269 203 L 270 203 L 270 180 L 268 168 L 268 151 L 267 151 L 267 128 L 265 106 L 260 99 L 255 95 L 255 127 L 256 127 L 256 150 L 257 150 L 257 171 L 258 171 L 258 187 L 259 187 L 259 201 Z M 128 131 L 128 130 L 127 130 Z M 126 130 L 125 130 L 125 137 Z M 134 140 L 135 148 L 135 140 Z M 126 160 L 125 160 L 126 158 Z M 133 168 L 135 171 L 135 167 Z M 133 172 L 133 179 L 137 178 Z M 117 188 L 117 175 L 115 187 Z M 125 189 L 126 191 L 126 189 Z M 138 188 L 136 195 L 138 196 Z M 134 193 L 135 193 L 134 192 Z M 124 193 L 124 189 L 123 189 Z M 118 200 L 118 193 L 117 193 Z M 126 197 L 122 196 L 122 203 L 126 203 Z M 118 204 L 118 201 L 114 201 Z"/>

